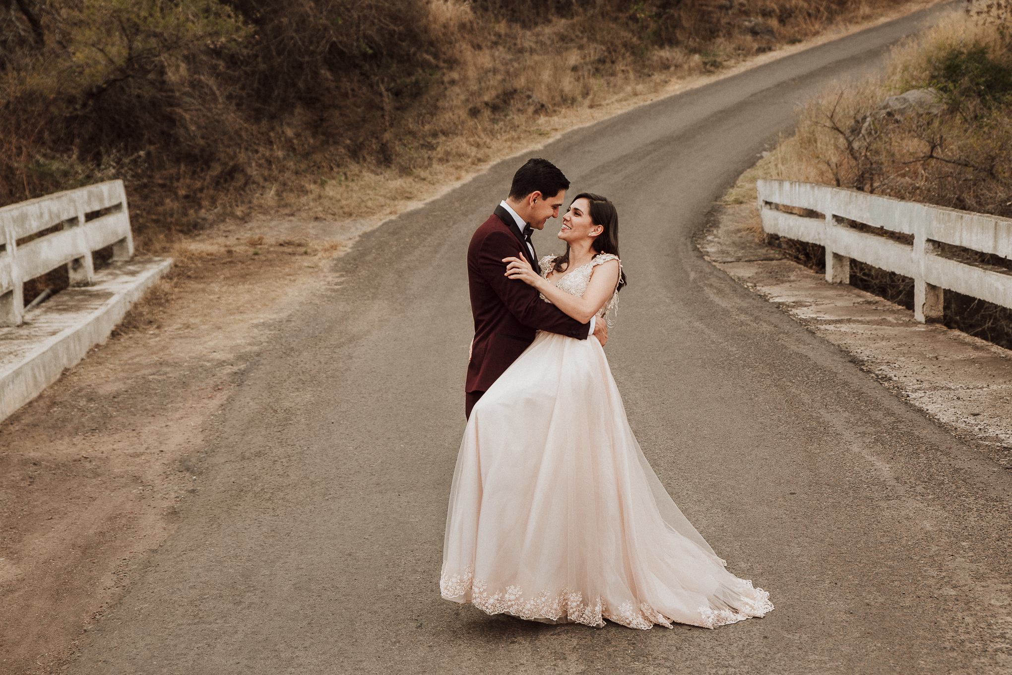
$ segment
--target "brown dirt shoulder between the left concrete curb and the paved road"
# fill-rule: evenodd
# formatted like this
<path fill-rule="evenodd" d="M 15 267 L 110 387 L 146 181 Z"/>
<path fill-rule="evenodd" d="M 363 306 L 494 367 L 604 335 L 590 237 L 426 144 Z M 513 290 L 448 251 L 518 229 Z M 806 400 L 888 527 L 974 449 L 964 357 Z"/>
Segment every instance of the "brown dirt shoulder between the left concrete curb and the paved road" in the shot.
<path fill-rule="evenodd" d="M 196 237 L 106 344 L 0 423 L 0 672 L 59 672 L 115 604 L 201 489 L 247 354 L 341 250 Z"/>

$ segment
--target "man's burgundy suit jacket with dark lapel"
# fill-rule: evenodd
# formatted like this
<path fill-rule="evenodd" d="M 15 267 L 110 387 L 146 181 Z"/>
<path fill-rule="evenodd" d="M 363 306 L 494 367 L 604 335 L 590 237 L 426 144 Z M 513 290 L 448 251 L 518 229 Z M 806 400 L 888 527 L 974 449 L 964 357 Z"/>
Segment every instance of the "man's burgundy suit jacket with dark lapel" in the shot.
<path fill-rule="evenodd" d="M 541 300 L 533 286 L 506 277 L 503 258 L 522 253 L 535 270 L 520 229 L 501 205 L 471 238 L 468 284 L 475 341 L 471 347 L 466 392 L 484 392 L 534 341 L 535 331 L 585 340 L 590 324 L 581 324 Z"/>

